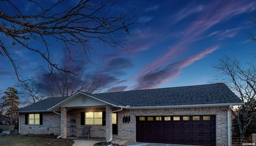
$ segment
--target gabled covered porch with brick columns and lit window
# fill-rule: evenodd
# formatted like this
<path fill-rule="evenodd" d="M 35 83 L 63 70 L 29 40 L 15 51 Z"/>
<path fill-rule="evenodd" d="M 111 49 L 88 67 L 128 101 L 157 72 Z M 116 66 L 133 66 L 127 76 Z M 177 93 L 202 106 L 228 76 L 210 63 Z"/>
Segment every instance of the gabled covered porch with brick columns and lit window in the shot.
<path fill-rule="evenodd" d="M 49 110 L 60 111 L 61 138 L 81 137 L 84 126 L 89 125 L 90 137 L 105 138 L 108 141 L 118 132 L 117 112 L 121 109 L 102 99 L 80 93 Z"/>

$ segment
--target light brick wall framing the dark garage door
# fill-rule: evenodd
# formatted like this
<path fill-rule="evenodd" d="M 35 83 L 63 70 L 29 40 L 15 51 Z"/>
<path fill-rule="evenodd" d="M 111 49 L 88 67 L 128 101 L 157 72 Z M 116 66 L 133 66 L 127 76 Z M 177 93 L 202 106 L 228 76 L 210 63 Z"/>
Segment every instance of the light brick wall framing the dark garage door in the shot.
<path fill-rule="evenodd" d="M 200 107 L 175 109 L 134 109 L 118 112 L 118 138 L 129 141 L 136 140 L 136 116 L 164 116 L 164 115 L 216 115 L 216 139 L 218 146 L 228 144 L 227 133 L 228 107 Z M 130 123 L 123 123 L 122 117 L 130 116 Z M 231 119 L 231 118 L 230 118 Z M 231 132 L 231 131 L 230 131 Z M 230 133 L 231 134 L 231 133 Z"/>

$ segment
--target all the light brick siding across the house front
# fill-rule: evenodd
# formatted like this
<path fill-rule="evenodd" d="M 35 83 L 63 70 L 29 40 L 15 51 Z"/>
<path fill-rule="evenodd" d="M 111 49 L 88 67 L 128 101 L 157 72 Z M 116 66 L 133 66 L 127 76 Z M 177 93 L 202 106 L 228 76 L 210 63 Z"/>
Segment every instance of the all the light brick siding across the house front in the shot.
<path fill-rule="evenodd" d="M 110 122 L 111 111 L 120 108 L 91 108 L 92 112 L 106 111 L 106 125 Z M 195 107 L 195 108 L 173 108 L 173 109 L 123 109 L 118 112 L 118 138 L 136 141 L 136 116 L 164 116 L 164 115 L 216 115 L 216 145 L 228 144 L 227 133 L 227 110 L 228 107 Z M 82 136 L 83 125 L 80 125 L 80 112 L 88 112 L 89 109 L 72 109 L 67 112 L 66 135 L 70 136 L 70 118 L 76 119 L 76 136 Z M 122 117 L 130 116 L 130 123 L 123 123 Z M 52 113 L 43 114 L 43 125 L 25 125 L 25 114 L 20 114 L 21 134 L 46 134 L 46 127 L 49 133 L 60 135 L 60 115 Z M 91 137 L 110 138 L 110 126 L 91 125 Z M 230 135 L 231 135 L 231 113 L 230 113 Z"/>

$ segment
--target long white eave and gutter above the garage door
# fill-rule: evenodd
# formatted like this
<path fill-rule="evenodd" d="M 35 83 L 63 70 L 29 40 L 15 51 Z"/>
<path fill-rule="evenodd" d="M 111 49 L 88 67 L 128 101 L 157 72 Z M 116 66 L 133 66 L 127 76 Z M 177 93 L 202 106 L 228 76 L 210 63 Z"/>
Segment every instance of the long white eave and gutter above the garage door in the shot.
<path fill-rule="evenodd" d="M 125 107 L 126 109 L 168 109 L 168 108 L 186 108 L 186 107 L 224 107 L 229 105 L 244 105 L 244 103 L 217 103 L 201 105 L 168 105 L 168 106 L 145 106 L 145 107 Z"/>

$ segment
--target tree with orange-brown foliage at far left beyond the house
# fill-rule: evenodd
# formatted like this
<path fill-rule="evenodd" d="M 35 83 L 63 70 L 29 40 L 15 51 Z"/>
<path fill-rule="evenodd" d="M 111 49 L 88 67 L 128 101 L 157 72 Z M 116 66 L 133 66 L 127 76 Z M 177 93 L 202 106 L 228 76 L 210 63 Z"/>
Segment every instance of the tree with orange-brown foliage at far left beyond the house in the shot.
<path fill-rule="evenodd" d="M 2 106 L 8 108 L 5 114 L 10 116 L 11 118 L 10 122 L 12 124 L 12 118 L 14 114 L 12 114 L 11 111 L 19 109 L 18 106 L 20 102 L 18 101 L 19 97 L 17 96 L 18 94 L 17 89 L 13 87 L 8 87 L 6 90 L 7 91 L 4 92 L 4 94 L 6 95 L 2 96 L 2 99 L 4 99 L 4 101 L 2 102 Z"/>

